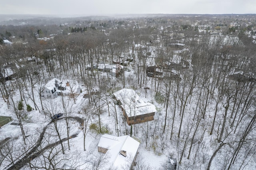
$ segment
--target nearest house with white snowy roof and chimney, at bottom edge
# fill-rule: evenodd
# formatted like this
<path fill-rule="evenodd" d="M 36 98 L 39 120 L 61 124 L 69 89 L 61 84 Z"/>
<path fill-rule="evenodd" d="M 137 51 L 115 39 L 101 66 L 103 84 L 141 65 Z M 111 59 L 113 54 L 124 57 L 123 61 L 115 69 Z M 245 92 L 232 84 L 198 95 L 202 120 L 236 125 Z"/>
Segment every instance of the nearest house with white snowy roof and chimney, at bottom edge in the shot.
<path fill-rule="evenodd" d="M 128 169 L 132 170 L 136 165 L 136 157 L 140 142 L 132 137 L 112 136 L 103 134 L 98 142 L 98 152 L 104 153 L 108 163 L 106 169 Z"/>

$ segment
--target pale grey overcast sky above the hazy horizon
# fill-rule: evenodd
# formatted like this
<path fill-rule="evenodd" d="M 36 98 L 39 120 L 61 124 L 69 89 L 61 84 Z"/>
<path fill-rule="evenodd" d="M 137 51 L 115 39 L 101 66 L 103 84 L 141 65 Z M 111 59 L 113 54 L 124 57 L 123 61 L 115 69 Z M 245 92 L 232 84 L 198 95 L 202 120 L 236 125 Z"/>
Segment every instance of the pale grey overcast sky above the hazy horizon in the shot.
<path fill-rule="evenodd" d="M 256 0 L 2 0 L 0 14 L 255 14 Z"/>

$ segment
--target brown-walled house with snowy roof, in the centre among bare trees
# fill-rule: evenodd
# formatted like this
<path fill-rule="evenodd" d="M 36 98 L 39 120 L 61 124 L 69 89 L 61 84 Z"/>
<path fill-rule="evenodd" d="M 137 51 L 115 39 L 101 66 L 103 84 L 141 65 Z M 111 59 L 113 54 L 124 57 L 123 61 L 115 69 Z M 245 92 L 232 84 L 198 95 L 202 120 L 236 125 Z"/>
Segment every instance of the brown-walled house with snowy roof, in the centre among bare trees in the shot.
<path fill-rule="evenodd" d="M 156 107 L 152 103 L 145 103 L 134 90 L 122 89 L 113 95 L 116 103 L 122 107 L 128 125 L 154 120 Z"/>

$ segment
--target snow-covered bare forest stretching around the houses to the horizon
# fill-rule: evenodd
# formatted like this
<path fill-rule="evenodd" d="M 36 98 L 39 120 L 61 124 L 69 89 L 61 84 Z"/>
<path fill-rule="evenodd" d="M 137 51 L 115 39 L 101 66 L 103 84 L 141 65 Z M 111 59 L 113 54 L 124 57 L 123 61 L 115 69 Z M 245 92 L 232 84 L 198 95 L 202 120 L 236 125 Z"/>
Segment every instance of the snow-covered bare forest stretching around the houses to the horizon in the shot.
<path fill-rule="evenodd" d="M 168 158 L 180 170 L 255 169 L 255 18 L 0 23 L 0 116 L 12 117 L 0 122 L 0 169 L 115 169 L 96 148 L 102 134 L 140 142 L 134 170 L 167 169 Z M 52 79 L 68 87 L 49 99 Z M 155 105 L 154 120 L 126 123 L 113 97 L 124 88 Z"/>

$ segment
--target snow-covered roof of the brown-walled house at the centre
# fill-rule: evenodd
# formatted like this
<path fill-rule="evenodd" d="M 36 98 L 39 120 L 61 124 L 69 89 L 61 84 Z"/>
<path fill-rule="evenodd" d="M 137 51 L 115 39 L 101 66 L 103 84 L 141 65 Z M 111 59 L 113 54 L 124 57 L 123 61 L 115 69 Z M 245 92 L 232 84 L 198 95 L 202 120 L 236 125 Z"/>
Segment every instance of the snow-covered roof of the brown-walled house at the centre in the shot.
<path fill-rule="evenodd" d="M 138 116 L 156 112 L 152 103 L 145 103 L 133 89 L 122 89 L 114 93 L 117 100 L 120 100 L 128 116 Z"/>

